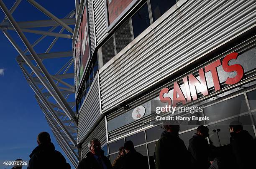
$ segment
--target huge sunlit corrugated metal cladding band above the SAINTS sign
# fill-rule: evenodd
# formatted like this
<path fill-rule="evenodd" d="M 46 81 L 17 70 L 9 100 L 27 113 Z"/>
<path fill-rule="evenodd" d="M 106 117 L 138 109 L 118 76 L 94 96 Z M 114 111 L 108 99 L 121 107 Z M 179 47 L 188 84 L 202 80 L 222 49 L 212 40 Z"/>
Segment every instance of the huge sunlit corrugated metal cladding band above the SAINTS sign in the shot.
<path fill-rule="evenodd" d="M 255 17 L 255 0 L 187 1 L 100 70 L 102 112 L 255 26 Z"/>

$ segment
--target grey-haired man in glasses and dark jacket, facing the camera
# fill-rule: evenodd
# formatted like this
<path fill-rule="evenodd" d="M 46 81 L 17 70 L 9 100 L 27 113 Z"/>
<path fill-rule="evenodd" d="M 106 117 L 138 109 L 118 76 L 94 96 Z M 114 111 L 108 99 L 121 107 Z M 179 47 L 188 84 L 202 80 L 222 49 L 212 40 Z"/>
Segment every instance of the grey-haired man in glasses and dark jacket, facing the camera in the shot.
<path fill-rule="evenodd" d="M 104 156 L 101 144 L 98 139 L 92 139 L 88 143 L 90 152 L 82 159 L 77 169 L 112 169 L 108 157 Z"/>

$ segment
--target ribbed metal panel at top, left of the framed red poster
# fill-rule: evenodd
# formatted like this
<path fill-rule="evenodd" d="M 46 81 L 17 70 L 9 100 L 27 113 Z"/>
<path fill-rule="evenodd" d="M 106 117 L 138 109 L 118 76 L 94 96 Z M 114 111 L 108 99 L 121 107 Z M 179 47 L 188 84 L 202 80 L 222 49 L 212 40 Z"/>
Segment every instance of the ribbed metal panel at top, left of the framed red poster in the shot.
<path fill-rule="evenodd" d="M 93 0 L 94 8 L 94 20 L 95 20 L 95 31 L 96 31 L 96 43 L 99 44 L 107 33 L 107 23 L 105 18 L 105 6 L 104 0 Z M 96 46 L 97 46 L 96 44 Z"/>

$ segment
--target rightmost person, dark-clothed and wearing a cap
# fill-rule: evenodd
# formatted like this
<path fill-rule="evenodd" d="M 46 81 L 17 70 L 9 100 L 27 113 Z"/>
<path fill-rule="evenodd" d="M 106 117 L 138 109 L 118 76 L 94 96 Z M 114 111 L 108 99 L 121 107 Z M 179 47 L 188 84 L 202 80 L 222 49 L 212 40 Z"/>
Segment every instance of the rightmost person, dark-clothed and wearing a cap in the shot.
<path fill-rule="evenodd" d="M 229 130 L 232 154 L 239 169 L 254 168 L 256 166 L 253 164 L 256 159 L 256 149 L 253 144 L 253 137 L 246 130 L 243 130 L 243 124 L 238 121 L 231 122 Z"/>

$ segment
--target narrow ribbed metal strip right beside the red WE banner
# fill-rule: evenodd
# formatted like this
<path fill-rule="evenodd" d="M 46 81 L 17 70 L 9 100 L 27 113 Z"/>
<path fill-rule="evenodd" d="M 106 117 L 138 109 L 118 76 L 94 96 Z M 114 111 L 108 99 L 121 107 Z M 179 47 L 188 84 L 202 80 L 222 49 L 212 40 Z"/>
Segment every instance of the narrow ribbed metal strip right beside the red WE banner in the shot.
<path fill-rule="evenodd" d="M 88 0 L 88 12 L 89 12 L 89 25 L 90 25 L 90 38 L 92 53 L 95 51 L 96 39 L 95 39 L 95 25 L 94 25 L 94 12 L 93 12 L 93 1 Z"/>

